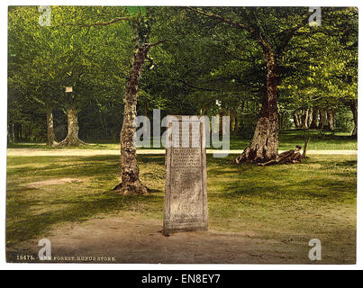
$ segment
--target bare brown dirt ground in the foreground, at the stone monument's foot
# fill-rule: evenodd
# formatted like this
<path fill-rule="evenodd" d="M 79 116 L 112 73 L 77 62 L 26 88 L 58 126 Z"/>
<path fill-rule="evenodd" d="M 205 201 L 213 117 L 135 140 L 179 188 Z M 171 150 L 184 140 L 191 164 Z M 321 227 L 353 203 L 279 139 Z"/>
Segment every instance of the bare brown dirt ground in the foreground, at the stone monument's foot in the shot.
<path fill-rule="evenodd" d="M 179 232 L 165 237 L 161 229 L 160 220 L 108 217 L 62 225 L 47 238 L 51 242 L 52 262 L 58 263 L 313 264 L 308 258 L 310 247 L 293 239 L 281 242 L 259 238 L 253 231 L 216 230 Z M 8 259 L 18 262 L 16 257 L 36 258 L 41 248 L 38 241 L 33 239 L 8 248 Z"/>

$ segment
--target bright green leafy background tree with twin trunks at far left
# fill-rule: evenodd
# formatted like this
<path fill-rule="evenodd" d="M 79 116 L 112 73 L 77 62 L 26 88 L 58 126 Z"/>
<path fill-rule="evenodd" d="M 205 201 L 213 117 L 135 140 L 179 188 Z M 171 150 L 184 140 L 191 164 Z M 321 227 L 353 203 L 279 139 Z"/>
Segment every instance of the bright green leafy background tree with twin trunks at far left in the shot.
<path fill-rule="evenodd" d="M 101 13 L 96 7 L 54 6 L 51 26 L 38 23 L 36 7 L 17 7 L 9 13 L 9 51 L 17 55 L 9 61 L 9 83 L 27 87 L 26 97 L 45 107 L 49 145 L 56 144 L 53 109 L 62 109 L 68 117 L 68 135 L 58 145 L 85 144 L 78 139 L 79 112 L 123 91 L 130 29 L 125 25 L 82 29 L 76 24 Z M 123 42 L 114 42 L 115 37 Z M 66 86 L 72 87 L 71 93 L 65 92 Z"/>

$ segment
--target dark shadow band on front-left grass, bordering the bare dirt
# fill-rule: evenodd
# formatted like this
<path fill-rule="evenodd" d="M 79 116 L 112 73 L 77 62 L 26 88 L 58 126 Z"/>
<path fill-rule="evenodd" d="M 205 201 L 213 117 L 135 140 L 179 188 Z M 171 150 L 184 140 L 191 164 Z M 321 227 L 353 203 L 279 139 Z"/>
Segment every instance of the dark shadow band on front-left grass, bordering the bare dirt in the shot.
<path fill-rule="evenodd" d="M 154 212 L 154 210 L 162 212 L 162 202 L 163 197 L 158 195 L 124 196 L 107 192 L 94 194 L 92 197 L 81 197 L 68 202 L 50 202 L 50 205 L 67 203 L 68 207 L 59 211 L 47 211 L 37 215 L 29 212 L 36 202 L 13 202 L 7 205 L 7 218 L 11 220 L 21 216 L 22 220 L 10 221 L 10 224 L 6 225 L 7 247 L 10 247 L 14 242 L 43 235 L 50 230 L 52 225 L 62 222 L 82 222 L 101 213 L 107 214 L 115 211 L 146 213 L 148 211 Z M 148 205 L 144 205 L 145 203 L 148 203 Z M 17 211 L 21 211 L 22 215 Z M 28 211 L 27 214 L 24 215 L 24 211 Z"/>

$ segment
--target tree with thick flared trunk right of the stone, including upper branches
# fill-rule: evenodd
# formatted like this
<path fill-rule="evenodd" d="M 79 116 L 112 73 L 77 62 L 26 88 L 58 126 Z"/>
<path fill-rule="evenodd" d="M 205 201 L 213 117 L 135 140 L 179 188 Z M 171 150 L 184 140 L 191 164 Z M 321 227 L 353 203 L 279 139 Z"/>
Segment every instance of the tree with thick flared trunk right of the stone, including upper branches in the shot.
<path fill-rule="evenodd" d="M 300 7 L 220 7 L 190 8 L 214 22 L 224 23 L 240 30 L 240 37 L 253 40 L 262 50 L 266 63 L 266 94 L 259 121 L 250 146 L 236 159 L 240 162 L 264 162 L 277 156 L 278 109 L 277 86 L 282 58 L 289 43 L 301 29 L 309 29 L 308 10 Z"/>

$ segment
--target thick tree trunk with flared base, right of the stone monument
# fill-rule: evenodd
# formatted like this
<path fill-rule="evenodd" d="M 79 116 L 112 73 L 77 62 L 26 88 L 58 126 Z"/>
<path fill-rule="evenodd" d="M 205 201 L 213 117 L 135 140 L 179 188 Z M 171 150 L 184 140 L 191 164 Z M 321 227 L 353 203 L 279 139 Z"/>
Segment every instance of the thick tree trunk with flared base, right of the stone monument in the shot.
<path fill-rule="evenodd" d="M 267 94 L 259 112 L 259 120 L 250 146 L 235 159 L 236 163 L 266 162 L 277 157 L 277 62 L 271 47 L 264 43 L 264 56 L 268 69 Z"/>

